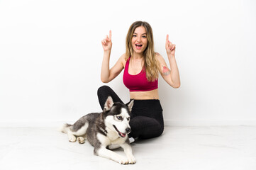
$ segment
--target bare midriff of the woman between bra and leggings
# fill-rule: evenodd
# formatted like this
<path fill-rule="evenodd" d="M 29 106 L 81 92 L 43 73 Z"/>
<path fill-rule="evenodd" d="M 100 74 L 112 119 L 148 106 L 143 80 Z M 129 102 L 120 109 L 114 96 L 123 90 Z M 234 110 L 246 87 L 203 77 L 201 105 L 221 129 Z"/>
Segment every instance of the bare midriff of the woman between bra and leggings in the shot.
<path fill-rule="evenodd" d="M 130 91 L 130 98 L 135 100 L 159 99 L 158 89 L 152 91 Z"/>

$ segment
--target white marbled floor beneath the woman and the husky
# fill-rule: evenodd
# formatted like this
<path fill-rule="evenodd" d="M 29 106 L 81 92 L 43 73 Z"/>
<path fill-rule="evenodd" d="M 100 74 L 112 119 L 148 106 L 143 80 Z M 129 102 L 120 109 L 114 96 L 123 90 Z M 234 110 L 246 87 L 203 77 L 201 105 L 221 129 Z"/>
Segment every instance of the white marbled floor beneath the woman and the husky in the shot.
<path fill-rule="evenodd" d="M 96 157 L 55 128 L 0 128 L 0 169 L 255 170 L 256 127 L 166 127 L 132 145 L 134 165 Z M 116 152 L 123 154 L 121 149 Z"/>

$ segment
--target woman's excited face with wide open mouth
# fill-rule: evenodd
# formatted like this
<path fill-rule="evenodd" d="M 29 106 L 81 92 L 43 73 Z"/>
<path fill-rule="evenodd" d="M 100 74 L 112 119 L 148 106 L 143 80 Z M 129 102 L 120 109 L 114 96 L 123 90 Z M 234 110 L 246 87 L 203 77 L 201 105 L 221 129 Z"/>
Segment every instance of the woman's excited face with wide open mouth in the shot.
<path fill-rule="evenodd" d="M 145 27 L 140 26 L 134 30 L 132 38 L 133 51 L 142 54 L 148 47 L 148 38 Z"/>

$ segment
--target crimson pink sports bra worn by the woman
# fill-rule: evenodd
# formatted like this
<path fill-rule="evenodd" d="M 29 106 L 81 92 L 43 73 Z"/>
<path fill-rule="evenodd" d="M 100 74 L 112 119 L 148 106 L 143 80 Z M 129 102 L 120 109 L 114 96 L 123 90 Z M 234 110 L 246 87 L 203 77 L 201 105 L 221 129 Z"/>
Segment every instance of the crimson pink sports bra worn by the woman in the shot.
<path fill-rule="evenodd" d="M 143 68 L 139 74 L 131 75 L 128 73 L 130 57 L 126 61 L 126 67 L 123 72 L 123 84 L 130 91 L 152 91 L 158 88 L 158 79 L 148 81 L 145 69 Z"/>

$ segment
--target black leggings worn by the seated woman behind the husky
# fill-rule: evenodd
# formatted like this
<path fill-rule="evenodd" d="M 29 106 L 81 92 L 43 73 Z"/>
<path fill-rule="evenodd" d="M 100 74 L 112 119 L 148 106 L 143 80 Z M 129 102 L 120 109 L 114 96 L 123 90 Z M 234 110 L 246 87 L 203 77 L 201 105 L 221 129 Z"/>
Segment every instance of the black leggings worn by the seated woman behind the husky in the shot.
<path fill-rule="evenodd" d="M 102 109 L 108 96 L 113 98 L 113 102 L 123 103 L 109 86 L 101 86 L 98 89 L 98 98 Z M 133 138 L 149 139 L 162 135 L 164 120 L 160 101 L 155 99 L 134 100 L 130 115 L 130 128 L 129 137 Z"/>

